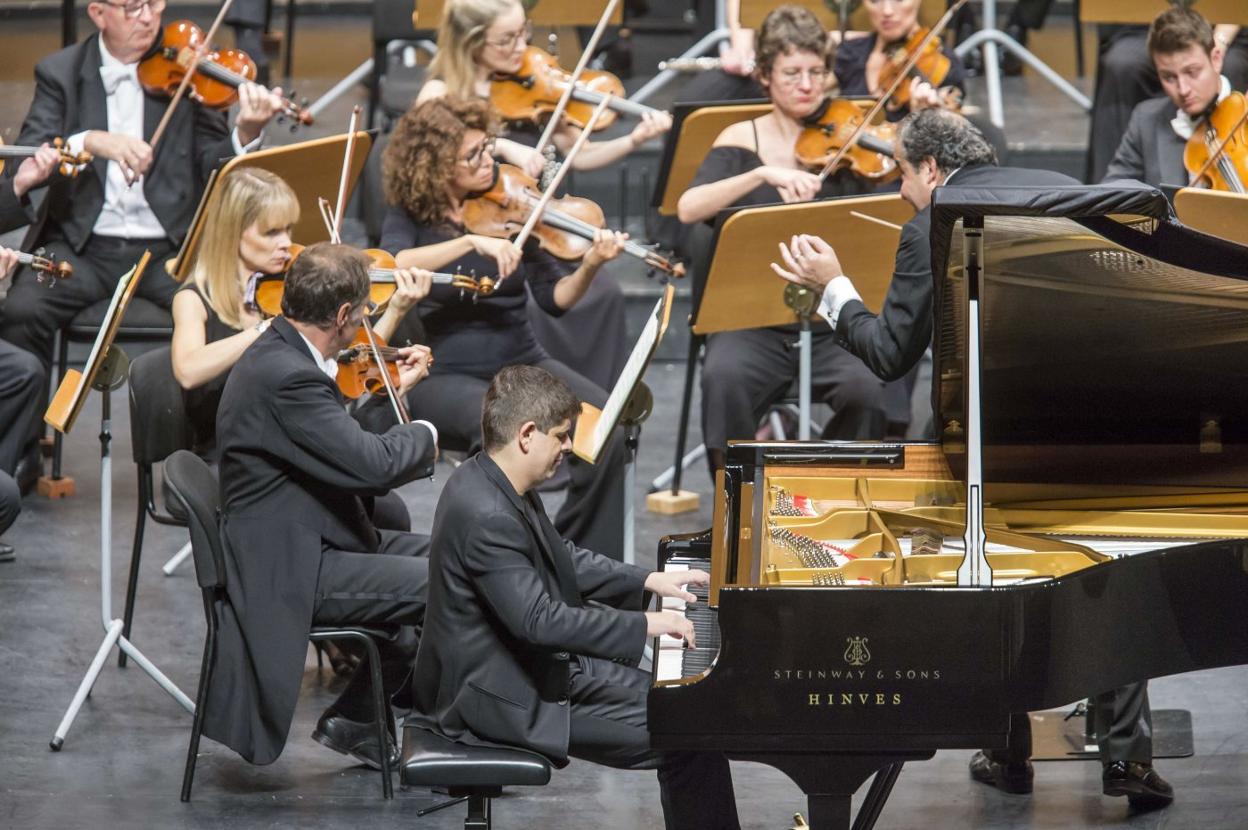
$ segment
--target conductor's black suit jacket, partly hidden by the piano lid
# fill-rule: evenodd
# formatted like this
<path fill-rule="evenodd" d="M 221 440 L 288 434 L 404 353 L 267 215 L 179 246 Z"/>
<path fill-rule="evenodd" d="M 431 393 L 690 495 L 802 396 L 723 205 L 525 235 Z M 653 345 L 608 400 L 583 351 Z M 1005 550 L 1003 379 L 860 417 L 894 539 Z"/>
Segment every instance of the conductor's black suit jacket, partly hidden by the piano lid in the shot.
<path fill-rule="evenodd" d="M 1066 187 L 1080 182 L 1050 170 L 978 165 L 956 170 L 946 185 L 958 187 Z M 885 381 L 904 377 L 932 342 L 931 208 L 901 227 L 892 281 L 879 315 L 851 300 L 836 320 L 840 343 Z M 852 275 L 850 275 L 852 277 Z"/>

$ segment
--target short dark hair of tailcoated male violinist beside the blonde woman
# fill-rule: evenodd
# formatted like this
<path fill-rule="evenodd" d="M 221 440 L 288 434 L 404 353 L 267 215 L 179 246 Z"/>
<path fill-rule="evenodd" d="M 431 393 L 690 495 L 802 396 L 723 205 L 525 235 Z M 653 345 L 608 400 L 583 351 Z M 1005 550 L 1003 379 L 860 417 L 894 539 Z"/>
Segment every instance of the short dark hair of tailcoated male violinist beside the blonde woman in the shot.
<path fill-rule="evenodd" d="M 368 257 L 346 245 L 310 245 L 291 263 L 282 290 L 282 315 L 287 320 L 328 328 L 338 308 L 368 300 Z"/>

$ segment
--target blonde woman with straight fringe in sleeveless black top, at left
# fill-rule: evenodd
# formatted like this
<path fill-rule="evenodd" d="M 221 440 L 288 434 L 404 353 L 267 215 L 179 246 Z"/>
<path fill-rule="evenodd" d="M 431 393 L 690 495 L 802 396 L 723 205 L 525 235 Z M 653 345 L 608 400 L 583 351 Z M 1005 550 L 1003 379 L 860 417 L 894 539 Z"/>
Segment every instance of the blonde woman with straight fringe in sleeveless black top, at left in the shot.
<path fill-rule="evenodd" d="M 230 369 L 268 327 L 247 302 L 248 285 L 253 275 L 286 270 L 300 205 L 276 173 L 242 167 L 222 182 L 211 211 L 191 275 L 173 297 L 173 377 L 201 454 L 211 454 L 216 443 L 217 403 Z M 398 290 L 376 325 L 384 338 L 431 287 L 427 271 L 394 276 Z"/>

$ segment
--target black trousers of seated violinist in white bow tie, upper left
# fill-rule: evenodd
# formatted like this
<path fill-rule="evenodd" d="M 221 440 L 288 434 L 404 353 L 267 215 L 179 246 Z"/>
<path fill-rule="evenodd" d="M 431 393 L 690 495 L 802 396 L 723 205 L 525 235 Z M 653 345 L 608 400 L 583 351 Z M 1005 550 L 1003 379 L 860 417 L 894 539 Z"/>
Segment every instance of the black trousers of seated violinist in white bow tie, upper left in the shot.
<path fill-rule="evenodd" d="M 45 242 L 44 248 L 57 261 L 71 263 L 74 276 L 47 286 L 36 280 L 34 271 L 21 268 L 0 310 L 0 338 L 37 357 L 45 369 L 52 364 L 56 332 L 91 303 L 111 297 L 117 280 L 139 262 L 145 250 L 152 252 L 152 258 L 139 281 L 137 296 L 161 308 L 173 305 L 178 285 L 165 271 L 165 260 L 173 252 L 168 240 L 92 236 L 81 253 L 75 253 L 65 240 Z"/>

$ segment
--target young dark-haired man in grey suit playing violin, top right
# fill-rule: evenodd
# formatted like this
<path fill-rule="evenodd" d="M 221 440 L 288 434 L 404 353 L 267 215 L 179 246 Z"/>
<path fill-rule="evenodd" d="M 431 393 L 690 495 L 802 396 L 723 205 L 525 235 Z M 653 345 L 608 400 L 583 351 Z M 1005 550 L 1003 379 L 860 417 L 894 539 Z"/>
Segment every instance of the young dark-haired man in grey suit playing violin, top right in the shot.
<path fill-rule="evenodd" d="M 1187 185 L 1183 150 L 1188 139 L 1203 130 L 1204 117 L 1232 92 L 1222 74 L 1223 50 L 1198 12 L 1167 9 L 1149 26 L 1148 54 L 1166 95 L 1132 111 L 1104 178 L 1133 178 L 1153 187 Z"/>

